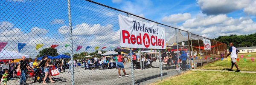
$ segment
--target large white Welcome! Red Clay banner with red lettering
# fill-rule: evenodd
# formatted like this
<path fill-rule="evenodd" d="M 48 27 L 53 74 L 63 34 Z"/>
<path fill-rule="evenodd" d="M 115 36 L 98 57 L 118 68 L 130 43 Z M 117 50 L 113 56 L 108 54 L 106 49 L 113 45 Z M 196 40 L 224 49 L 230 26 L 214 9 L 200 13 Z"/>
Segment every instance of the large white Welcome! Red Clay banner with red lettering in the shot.
<path fill-rule="evenodd" d="M 165 49 L 164 28 L 118 15 L 121 47 Z"/>

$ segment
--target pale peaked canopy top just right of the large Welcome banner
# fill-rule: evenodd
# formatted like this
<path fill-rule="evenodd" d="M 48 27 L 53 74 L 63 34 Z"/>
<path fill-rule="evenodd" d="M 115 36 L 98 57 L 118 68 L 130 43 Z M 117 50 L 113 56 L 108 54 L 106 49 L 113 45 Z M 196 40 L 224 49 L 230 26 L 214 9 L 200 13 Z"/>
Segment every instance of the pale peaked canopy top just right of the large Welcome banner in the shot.
<path fill-rule="evenodd" d="M 184 37 L 180 31 L 177 32 L 178 42 L 188 41 L 189 39 Z M 173 36 L 171 39 L 166 41 L 166 43 L 176 43 L 176 36 Z"/>

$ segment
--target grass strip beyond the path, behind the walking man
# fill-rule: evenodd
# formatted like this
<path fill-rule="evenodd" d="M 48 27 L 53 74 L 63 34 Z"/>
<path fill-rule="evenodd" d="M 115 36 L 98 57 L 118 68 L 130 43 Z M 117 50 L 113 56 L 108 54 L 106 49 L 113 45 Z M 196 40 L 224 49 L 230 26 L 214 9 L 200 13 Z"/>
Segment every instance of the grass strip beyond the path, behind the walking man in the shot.
<path fill-rule="evenodd" d="M 252 62 L 251 58 L 256 58 L 256 53 L 250 53 L 251 56 L 248 57 L 249 54 L 239 54 L 239 62 L 237 62 L 239 68 L 241 71 L 256 71 L 256 62 Z M 243 58 L 241 58 L 241 55 L 244 55 L 244 58 L 246 59 L 246 62 Z M 230 57 L 227 57 L 230 58 Z M 223 70 L 226 68 L 231 68 L 231 59 L 228 61 L 227 58 L 224 58 L 222 61 L 218 60 L 216 62 L 209 63 L 207 65 L 204 65 L 202 67 L 198 67 L 198 69 L 212 69 L 212 70 Z M 233 70 L 236 71 L 236 66 L 233 67 Z"/>

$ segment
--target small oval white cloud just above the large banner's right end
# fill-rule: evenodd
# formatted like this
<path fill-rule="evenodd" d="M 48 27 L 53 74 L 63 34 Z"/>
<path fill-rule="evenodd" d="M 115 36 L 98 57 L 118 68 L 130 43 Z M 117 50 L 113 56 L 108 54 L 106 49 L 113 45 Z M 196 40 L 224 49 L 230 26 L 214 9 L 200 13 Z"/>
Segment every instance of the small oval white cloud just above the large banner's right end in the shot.
<path fill-rule="evenodd" d="M 172 14 L 172 15 L 163 17 L 162 21 L 168 22 L 168 23 L 180 23 L 190 18 L 191 18 L 191 14 L 189 13 Z"/>

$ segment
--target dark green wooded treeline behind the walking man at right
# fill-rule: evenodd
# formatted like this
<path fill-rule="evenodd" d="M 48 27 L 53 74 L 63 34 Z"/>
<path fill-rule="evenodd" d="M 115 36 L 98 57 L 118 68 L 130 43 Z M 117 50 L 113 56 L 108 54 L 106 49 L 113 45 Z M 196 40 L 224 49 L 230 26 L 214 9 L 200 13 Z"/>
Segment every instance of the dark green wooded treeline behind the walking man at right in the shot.
<path fill-rule="evenodd" d="M 215 38 L 215 40 L 226 43 L 227 45 L 229 45 L 230 42 L 233 42 L 235 47 L 256 46 L 256 33 L 248 35 L 231 34 L 230 36 L 220 36 Z"/>

